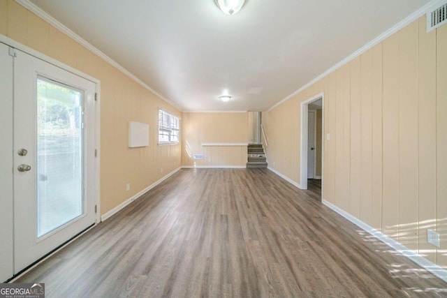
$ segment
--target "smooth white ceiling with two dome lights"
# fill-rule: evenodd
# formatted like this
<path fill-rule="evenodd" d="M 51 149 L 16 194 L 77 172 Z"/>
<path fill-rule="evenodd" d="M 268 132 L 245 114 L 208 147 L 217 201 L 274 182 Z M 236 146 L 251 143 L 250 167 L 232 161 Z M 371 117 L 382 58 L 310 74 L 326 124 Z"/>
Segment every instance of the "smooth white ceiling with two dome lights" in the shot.
<path fill-rule="evenodd" d="M 429 1 L 247 0 L 237 15 L 214 0 L 31 2 L 185 111 L 257 111 Z"/>

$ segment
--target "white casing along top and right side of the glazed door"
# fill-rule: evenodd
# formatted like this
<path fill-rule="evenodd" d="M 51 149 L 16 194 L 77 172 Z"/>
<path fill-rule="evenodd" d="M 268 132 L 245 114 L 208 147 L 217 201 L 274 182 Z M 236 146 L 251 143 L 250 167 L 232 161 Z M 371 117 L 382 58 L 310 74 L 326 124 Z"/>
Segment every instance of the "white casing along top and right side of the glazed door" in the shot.
<path fill-rule="evenodd" d="M 96 147 L 96 163 L 94 165 L 95 167 L 95 205 L 97 207 L 96 209 L 96 223 L 101 222 L 101 189 L 100 189 L 100 177 L 101 177 L 101 81 L 96 79 L 95 77 L 91 77 L 90 75 L 87 75 L 86 73 L 82 73 L 82 71 L 73 68 L 71 66 L 68 66 L 52 57 L 49 57 L 45 54 L 42 54 L 41 52 L 38 52 L 31 47 L 27 47 L 26 45 L 22 45 L 22 43 L 18 43 L 17 41 L 8 38 L 7 36 L 4 36 L 0 34 L 0 43 L 4 43 L 5 45 L 8 45 L 9 47 L 14 47 L 17 50 L 21 50 L 22 52 L 25 52 L 27 54 L 30 54 L 31 56 L 34 56 L 38 59 L 41 59 L 43 61 L 48 62 L 49 64 L 53 64 L 54 66 L 58 66 L 59 68 L 62 68 L 64 70 L 69 71 L 70 73 L 74 73 L 75 75 L 78 75 L 80 77 L 85 78 L 86 80 L 89 80 L 91 82 L 94 82 L 96 84 L 96 119 L 95 119 L 95 131 L 96 131 L 96 137 L 95 137 L 95 147 Z M 11 111 L 12 112 L 12 111 Z"/>

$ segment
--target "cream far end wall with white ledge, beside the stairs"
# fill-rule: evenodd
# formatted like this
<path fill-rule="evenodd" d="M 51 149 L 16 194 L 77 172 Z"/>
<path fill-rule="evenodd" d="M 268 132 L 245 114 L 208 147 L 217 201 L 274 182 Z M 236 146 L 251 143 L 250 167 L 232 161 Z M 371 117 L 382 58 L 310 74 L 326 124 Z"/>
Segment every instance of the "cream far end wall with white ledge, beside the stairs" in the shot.
<path fill-rule="evenodd" d="M 247 146 L 202 146 L 202 143 L 247 143 L 248 113 L 184 113 L 182 165 L 245 166 Z M 193 154 L 203 154 L 194 160 Z"/>

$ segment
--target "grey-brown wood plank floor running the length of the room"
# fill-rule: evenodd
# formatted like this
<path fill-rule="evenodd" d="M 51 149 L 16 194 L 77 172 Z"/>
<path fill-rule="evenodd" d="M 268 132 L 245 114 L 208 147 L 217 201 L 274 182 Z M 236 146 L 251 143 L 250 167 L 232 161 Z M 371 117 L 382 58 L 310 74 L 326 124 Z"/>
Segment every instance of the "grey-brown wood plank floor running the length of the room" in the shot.
<path fill-rule="evenodd" d="M 269 170 L 181 170 L 16 282 L 47 297 L 446 297 Z"/>

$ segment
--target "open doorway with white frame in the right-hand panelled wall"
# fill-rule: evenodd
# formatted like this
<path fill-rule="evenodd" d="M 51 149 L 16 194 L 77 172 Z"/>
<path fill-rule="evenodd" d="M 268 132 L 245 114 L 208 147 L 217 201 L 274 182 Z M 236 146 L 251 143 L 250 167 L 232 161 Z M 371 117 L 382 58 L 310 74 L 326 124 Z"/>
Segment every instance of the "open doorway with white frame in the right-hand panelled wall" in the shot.
<path fill-rule="evenodd" d="M 300 186 L 323 198 L 324 94 L 301 103 Z"/>

